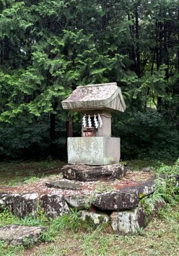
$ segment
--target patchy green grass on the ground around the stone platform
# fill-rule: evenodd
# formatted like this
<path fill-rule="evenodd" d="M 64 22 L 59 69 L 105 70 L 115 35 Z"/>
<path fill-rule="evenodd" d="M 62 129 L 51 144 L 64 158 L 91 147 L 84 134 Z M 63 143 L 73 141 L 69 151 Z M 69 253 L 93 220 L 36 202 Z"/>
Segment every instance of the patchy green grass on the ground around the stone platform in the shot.
<path fill-rule="evenodd" d="M 157 160 L 132 160 L 128 161 L 128 165 L 131 169 L 140 170 L 146 166 L 158 168 L 160 164 Z M 60 161 L 3 162 L 0 163 L 0 185 L 37 181 L 41 176 L 59 173 L 61 166 Z M 166 167 L 161 167 L 159 170 L 163 170 L 162 168 Z M 0 213 L 0 226 L 7 224 L 41 225 L 48 227 L 49 232 L 46 235 L 42 234 L 43 242 L 34 248 L 7 246 L 1 241 L 0 255 L 179 256 L 179 206 L 174 203 L 168 204 L 157 217 L 150 221 L 147 228 L 139 230 L 139 234 L 133 236 L 112 234 L 109 227 L 101 226 L 93 230 L 87 225 L 79 224 L 76 211 L 69 216 L 54 220 L 46 218 L 42 212 L 39 212 L 37 218 L 26 217 L 20 220 L 4 210 Z M 50 240 L 50 243 L 45 242 Z"/>

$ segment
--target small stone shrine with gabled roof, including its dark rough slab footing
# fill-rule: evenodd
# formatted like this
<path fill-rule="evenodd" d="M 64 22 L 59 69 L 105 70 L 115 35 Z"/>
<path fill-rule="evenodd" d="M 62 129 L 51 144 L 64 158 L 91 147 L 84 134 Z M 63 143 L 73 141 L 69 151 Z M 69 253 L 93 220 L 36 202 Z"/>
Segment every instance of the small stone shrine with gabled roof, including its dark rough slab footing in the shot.
<path fill-rule="evenodd" d="M 94 172 L 94 166 L 99 178 L 101 173 L 107 173 L 109 179 L 122 178 L 119 172 L 120 138 L 111 137 L 111 114 L 124 112 L 126 108 L 120 87 L 116 83 L 78 86 L 62 101 L 62 106 L 82 114 L 82 137 L 68 138 L 70 165 L 64 166 L 65 178 L 78 180 L 77 176 L 86 176 L 89 180 L 88 173 L 90 175 L 91 169 Z"/>

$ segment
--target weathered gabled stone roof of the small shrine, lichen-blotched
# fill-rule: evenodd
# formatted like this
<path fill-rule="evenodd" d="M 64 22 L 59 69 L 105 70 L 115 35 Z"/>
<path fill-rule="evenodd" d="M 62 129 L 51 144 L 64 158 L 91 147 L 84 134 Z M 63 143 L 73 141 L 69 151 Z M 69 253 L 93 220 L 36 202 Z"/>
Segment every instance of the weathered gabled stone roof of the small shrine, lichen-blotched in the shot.
<path fill-rule="evenodd" d="M 117 83 L 78 86 L 64 101 L 63 109 L 74 111 L 111 110 L 125 111 L 126 105 Z"/>

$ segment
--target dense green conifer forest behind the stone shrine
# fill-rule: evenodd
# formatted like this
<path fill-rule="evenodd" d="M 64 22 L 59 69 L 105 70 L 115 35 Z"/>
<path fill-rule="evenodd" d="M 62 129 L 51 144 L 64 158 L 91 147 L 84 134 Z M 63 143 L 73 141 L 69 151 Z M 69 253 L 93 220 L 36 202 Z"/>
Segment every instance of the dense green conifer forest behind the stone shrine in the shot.
<path fill-rule="evenodd" d="M 61 101 L 117 82 L 121 158 L 179 155 L 178 0 L 1 0 L 0 159 L 67 157 L 81 117 Z"/>

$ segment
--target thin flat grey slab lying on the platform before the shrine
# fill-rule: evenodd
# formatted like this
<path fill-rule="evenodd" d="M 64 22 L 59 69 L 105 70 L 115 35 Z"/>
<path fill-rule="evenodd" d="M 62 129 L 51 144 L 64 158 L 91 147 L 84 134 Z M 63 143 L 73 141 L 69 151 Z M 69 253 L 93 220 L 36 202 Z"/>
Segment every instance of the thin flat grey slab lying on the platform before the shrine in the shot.
<path fill-rule="evenodd" d="M 54 180 L 45 183 L 46 187 L 59 189 L 82 189 L 81 185 L 70 183 L 69 181 Z"/>

